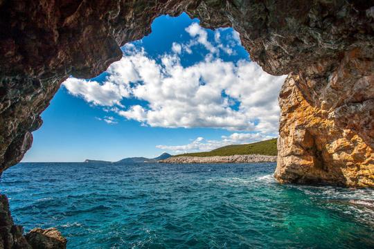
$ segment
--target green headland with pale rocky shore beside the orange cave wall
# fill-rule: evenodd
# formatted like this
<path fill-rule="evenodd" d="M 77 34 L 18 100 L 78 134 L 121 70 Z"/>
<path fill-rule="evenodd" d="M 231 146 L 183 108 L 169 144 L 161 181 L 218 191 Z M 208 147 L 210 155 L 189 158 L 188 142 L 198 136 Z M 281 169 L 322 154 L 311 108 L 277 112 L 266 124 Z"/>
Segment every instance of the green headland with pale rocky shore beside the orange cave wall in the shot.
<path fill-rule="evenodd" d="M 246 145 L 228 145 L 207 152 L 179 154 L 159 163 L 260 163 L 276 162 L 276 138 Z"/>

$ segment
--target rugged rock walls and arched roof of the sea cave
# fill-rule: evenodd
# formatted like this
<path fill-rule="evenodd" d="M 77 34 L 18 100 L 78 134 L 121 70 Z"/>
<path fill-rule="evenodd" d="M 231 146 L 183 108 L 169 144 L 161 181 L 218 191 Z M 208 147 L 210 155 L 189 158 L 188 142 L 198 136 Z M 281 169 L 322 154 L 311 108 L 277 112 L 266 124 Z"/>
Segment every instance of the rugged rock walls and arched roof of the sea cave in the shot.
<path fill-rule="evenodd" d="M 0 1 L 0 174 L 30 149 L 67 77 L 100 74 L 156 17 L 182 12 L 204 28 L 235 28 L 263 70 L 288 75 L 280 183 L 374 186 L 374 6 L 343 0 Z M 3 248 L 30 248 L 4 195 L 1 210 Z"/>

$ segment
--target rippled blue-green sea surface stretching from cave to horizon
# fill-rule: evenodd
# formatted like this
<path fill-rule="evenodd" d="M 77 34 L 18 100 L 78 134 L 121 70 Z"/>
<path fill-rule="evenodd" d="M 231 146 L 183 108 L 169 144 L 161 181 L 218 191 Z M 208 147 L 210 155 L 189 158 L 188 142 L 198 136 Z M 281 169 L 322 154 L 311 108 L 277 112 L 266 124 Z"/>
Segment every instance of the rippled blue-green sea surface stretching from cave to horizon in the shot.
<path fill-rule="evenodd" d="M 21 163 L 15 223 L 68 248 L 374 248 L 374 191 L 280 185 L 275 163 Z"/>

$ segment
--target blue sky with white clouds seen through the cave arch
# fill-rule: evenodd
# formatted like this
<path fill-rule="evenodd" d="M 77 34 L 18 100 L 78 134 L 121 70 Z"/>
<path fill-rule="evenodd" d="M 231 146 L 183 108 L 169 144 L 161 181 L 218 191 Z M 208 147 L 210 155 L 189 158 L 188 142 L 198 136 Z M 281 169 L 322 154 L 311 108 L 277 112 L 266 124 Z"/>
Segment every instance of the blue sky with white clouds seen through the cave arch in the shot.
<path fill-rule="evenodd" d="M 122 50 L 98 77 L 62 84 L 24 162 L 152 158 L 278 136 L 285 75 L 251 62 L 232 28 L 161 16 Z"/>

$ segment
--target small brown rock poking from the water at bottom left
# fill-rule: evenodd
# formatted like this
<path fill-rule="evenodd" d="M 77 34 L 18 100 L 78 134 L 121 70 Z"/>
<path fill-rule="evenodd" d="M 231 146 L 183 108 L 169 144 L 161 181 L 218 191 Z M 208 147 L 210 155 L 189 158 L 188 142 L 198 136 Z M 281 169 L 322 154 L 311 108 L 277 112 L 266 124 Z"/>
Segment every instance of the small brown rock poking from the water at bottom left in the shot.
<path fill-rule="evenodd" d="M 66 239 L 56 228 L 34 228 L 26 234 L 26 239 L 33 249 L 66 248 Z"/>

